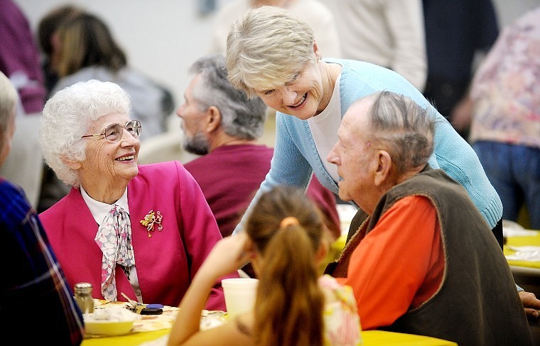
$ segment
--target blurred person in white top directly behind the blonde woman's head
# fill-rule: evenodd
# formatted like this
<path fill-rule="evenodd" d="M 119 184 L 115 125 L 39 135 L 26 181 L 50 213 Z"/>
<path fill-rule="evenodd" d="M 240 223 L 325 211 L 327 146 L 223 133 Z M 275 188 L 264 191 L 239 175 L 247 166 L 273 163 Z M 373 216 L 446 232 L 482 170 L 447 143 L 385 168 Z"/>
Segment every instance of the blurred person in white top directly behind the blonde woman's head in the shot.
<path fill-rule="evenodd" d="M 319 0 L 232 0 L 224 4 L 216 13 L 212 30 L 209 53 L 225 54 L 227 34 L 232 23 L 242 13 L 261 6 L 278 6 L 290 11 L 306 21 L 313 32 L 319 47 L 329 57 L 341 57 L 338 26 L 332 11 Z"/>

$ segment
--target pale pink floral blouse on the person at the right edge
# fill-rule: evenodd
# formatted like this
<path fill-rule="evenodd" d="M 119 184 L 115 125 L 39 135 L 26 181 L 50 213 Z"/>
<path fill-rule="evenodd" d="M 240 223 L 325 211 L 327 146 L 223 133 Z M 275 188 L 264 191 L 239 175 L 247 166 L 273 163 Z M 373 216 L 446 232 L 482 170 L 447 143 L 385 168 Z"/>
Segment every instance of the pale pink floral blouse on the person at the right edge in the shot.
<path fill-rule="evenodd" d="M 540 7 L 502 31 L 475 74 L 470 141 L 540 148 Z"/>

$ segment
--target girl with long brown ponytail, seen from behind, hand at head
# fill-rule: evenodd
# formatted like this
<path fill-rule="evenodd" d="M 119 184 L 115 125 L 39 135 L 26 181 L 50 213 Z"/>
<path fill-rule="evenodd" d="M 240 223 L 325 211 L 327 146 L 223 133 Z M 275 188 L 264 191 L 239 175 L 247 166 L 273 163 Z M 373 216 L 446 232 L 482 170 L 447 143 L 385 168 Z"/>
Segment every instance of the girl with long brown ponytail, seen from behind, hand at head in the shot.
<path fill-rule="evenodd" d="M 361 345 L 350 287 L 317 274 L 327 252 L 323 227 L 303 190 L 277 186 L 262 194 L 246 232 L 220 240 L 195 275 L 168 345 Z M 212 283 L 249 260 L 259 278 L 254 312 L 199 330 Z"/>

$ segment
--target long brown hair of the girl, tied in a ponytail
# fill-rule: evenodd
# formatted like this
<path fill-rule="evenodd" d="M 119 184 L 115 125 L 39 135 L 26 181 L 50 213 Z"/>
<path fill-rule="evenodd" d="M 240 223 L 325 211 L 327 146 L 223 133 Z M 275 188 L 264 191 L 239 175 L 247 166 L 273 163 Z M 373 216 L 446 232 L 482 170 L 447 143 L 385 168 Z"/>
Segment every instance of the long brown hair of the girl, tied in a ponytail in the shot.
<path fill-rule="evenodd" d="M 315 266 L 322 220 L 303 191 L 291 187 L 265 193 L 252 210 L 246 231 L 262 258 L 257 345 L 323 345 L 324 296 Z"/>

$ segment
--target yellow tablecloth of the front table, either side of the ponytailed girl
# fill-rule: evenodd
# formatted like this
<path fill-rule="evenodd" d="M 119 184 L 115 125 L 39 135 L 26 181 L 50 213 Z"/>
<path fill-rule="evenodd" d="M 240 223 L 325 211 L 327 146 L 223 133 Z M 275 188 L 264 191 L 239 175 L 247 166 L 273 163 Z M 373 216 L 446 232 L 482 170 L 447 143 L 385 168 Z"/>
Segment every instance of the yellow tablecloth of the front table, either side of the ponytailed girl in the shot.
<path fill-rule="evenodd" d="M 135 346 L 141 342 L 156 340 L 159 337 L 167 335 L 166 330 L 155 332 L 134 333 L 117 337 L 99 337 L 85 339 L 82 346 Z M 381 330 L 365 330 L 362 332 L 364 346 L 451 346 L 458 345 L 455 342 L 436 339 L 435 337 L 426 337 L 421 335 L 411 335 L 402 333 L 383 332 Z M 165 345 L 163 343 L 162 345 Z"/>

